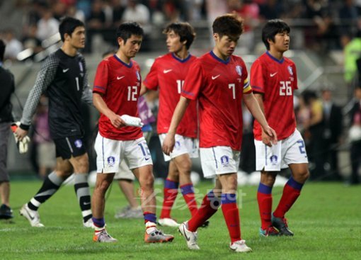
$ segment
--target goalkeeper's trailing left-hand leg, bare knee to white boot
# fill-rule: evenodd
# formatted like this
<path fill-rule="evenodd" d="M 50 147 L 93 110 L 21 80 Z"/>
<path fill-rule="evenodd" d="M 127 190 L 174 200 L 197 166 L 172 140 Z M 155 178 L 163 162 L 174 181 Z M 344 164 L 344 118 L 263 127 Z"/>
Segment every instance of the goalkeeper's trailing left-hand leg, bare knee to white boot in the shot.
<path fill-rule="evenodd" d="M 20 215 L 26 217 L 32 227 L 44 227 L 40 222 L 38 208 L 57 192 L 64 180 L 67 179 L 72 172 L 73 167 L 69 160 L 57 157 L 55 171 L 52 171 L 52 173 L 46 176 L 39 191 L 28 203 L 25 203 L 20 210 Z"/>

